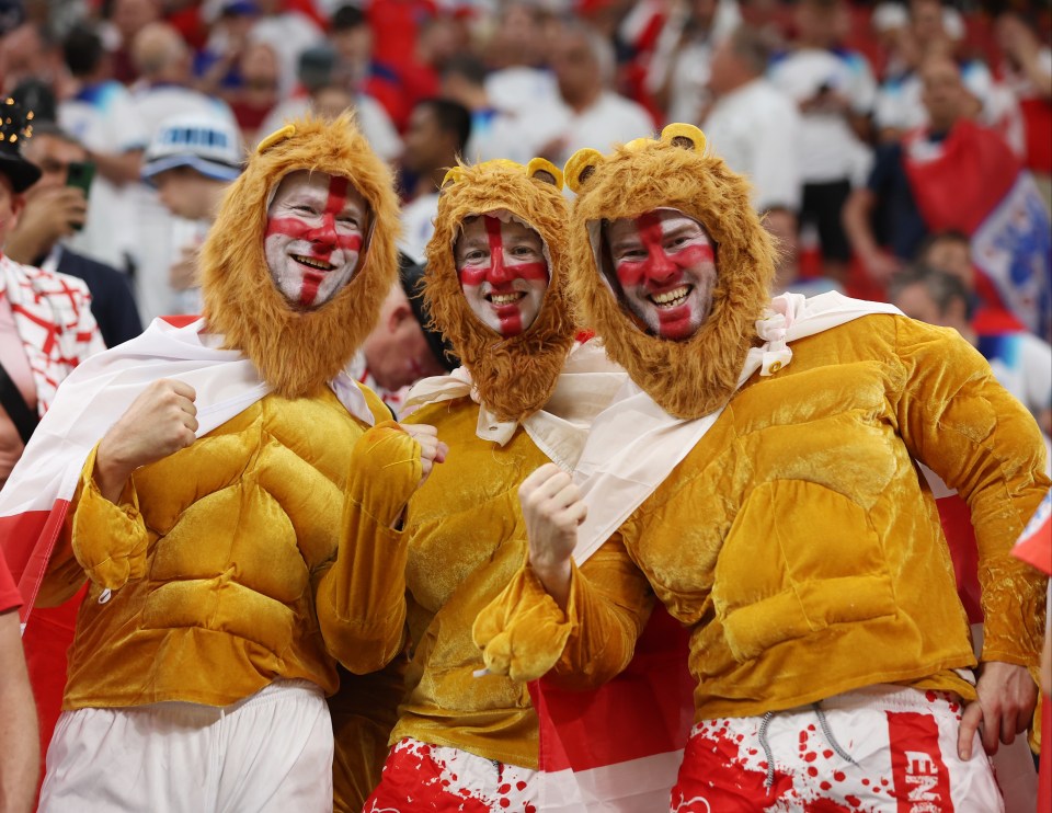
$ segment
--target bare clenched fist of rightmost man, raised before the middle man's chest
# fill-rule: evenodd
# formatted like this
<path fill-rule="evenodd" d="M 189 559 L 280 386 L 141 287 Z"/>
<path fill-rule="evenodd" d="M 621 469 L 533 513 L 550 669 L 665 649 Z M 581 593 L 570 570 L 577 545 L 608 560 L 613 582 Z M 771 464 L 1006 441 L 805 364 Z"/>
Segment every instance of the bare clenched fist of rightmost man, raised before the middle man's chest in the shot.
<path fill-rule="evenodd" d="M 587 516 L 587 505 L 573 479 L 554 463 L 545 463 L 523 481 L 518 501 L 529 538 L 529 566 L 565 609 L 571 554 L 578 545 L 578 526 Z"/>

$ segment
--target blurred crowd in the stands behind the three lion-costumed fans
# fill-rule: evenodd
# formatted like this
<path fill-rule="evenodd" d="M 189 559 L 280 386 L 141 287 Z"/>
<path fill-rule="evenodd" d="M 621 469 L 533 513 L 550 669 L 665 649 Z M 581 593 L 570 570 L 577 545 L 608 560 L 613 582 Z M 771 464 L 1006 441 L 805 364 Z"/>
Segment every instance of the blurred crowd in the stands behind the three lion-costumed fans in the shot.
<path fill-rule="evenodd" d="M 984 352 L 1049 433 L 1047 211 L 1011 238 L 1026 273 L 992 279 L 974 253 L 985 197 L 1024 175 L 1052 197 L 1050 26 L 1048 2 L 1013 0 L 0 0 L 2 90 L 53 146 L 5 250 L 117 268 L 145 321 L 199 307 L 218 195 L 308 110 L 356 111 L 398 170 L 418 261 L 458 157 L 561 165 L 688 122 L 750 176 L 781 289 L 996 336 Z"/>

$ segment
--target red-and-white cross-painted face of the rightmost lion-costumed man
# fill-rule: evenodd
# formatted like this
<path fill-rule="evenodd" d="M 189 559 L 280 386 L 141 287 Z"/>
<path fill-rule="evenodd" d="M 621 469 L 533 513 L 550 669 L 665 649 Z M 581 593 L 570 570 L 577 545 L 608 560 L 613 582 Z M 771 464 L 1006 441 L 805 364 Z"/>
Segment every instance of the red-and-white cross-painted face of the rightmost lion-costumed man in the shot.
<path fill-rule="evenodd" d="M 717 278 L 716 252 L 701 224 L 677 209 L 654 209 L 613 220 L 604 231 L 631 311 L 662 339 L 697 333 L 712 309 Z"/>

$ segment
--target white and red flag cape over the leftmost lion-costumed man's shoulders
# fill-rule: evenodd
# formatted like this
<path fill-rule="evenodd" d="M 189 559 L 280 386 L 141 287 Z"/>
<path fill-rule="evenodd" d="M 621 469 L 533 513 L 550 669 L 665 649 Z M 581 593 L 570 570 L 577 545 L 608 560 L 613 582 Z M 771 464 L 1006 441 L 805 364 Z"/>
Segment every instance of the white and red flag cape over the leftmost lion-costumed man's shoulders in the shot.
<path fill-rule="evenodd" d="M 270 392 L 240 351 L 219 350 L 221 337 L 203 329 L 203 319 L 185 327 L 157 319 L 142 335 L 89 358 L 59 388 L 0 491 L 0 550 L 22 594 L 23 630 L 88 455 L 149 383 L 170 378 L 194 388 L 198 437 Z M 330 386 L 352 414 L 373 424 L 348 376 Z"/>

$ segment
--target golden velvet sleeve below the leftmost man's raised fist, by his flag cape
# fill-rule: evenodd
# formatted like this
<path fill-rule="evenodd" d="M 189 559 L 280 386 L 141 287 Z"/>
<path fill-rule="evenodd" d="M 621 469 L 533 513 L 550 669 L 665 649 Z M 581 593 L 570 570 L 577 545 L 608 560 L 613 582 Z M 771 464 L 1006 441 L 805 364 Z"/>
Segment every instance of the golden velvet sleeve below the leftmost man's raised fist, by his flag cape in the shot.
<path fill-rule="evenodd" d="M 91 450 L 81 469 L 65 527 L 41 586 L 39 604 L 53 606 L 70 598 L 84 575 L 100 587 L 119 589 L 146 575 L 149 534 L 132 478 L 114 504 L 99 491 L 94 480 L 95 455 Z"/>

